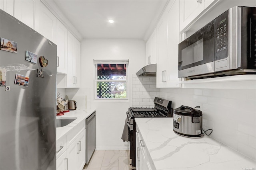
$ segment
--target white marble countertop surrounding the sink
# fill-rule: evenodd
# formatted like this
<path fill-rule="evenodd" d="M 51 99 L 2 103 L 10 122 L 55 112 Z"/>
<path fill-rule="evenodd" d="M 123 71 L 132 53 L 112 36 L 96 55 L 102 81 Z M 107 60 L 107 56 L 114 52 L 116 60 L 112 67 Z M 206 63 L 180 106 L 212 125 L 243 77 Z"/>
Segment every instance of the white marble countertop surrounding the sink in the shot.
<path fill-rule="evenodd" d="M 70 110 L 64 115 L 57 116 L 57 119 L 61 117 L 77 117 L 77 119 L 66 126 L 56 128 L 56 141 L 58 141 L 58 139 L 60 139 L 63 135 L 68 133 L 68 131 L 73 129 L 78 123 L 89 117 L 92 113 L 94 113 L 94 111 L 95 109 L 76 109 Z"/>

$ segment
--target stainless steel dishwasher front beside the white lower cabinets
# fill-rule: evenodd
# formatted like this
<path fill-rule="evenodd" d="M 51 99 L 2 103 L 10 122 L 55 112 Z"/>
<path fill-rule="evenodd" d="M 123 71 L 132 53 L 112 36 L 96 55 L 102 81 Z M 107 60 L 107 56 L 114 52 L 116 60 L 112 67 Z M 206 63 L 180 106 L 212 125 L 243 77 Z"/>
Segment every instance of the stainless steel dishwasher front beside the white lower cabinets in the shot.
<path fill-rule="evenodd" d="M 96 112 L 92 113 L 86 121 L 86 164 L 90 161 L 96 148 Z"/>

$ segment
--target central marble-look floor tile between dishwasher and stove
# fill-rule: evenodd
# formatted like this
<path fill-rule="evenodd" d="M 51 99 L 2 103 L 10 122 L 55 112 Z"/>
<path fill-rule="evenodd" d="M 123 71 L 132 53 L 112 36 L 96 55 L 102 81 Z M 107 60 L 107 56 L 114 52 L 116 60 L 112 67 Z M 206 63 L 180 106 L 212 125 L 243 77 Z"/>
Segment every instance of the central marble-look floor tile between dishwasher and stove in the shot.
<path fill-rule="evenodd" d="M 119 150 L 106 150 L 102 161 L 102 167 L 118 167 L 118 159 Z"/>

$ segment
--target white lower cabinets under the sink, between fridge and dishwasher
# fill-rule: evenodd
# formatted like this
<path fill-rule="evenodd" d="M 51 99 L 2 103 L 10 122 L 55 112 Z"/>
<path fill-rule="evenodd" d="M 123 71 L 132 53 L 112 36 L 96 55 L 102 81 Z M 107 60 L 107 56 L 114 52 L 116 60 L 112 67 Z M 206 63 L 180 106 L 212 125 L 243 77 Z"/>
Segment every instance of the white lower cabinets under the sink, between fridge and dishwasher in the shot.
<path fill-rule="evenodd" d="M 82 128 L 82 129 L 81 129 Z M 78 133 L 76 133 L 79 131 Z M 72 137 L 71 137 L 72 136 Z M 56 145 L 56 170 L 82 170 L 85 165 L 85 121 L 79 123 Z M 67 139 L 67 142 L 65 142 Z M 63 149 L 63 150 L 62 150 Z M 58 153 L 63 153 L 59 155 Z"/>

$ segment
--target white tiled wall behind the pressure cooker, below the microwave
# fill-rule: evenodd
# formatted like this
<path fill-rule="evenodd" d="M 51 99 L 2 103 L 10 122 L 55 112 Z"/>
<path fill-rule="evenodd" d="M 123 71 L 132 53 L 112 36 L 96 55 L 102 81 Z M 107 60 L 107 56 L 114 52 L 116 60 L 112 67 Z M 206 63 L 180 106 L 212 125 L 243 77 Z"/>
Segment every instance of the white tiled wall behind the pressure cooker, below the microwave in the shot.
<path fill-rule="evenodd" d="M 210 137 L 256 160 L 256 90 L 160 89 L 173 108 L 200 106 Z"/>

